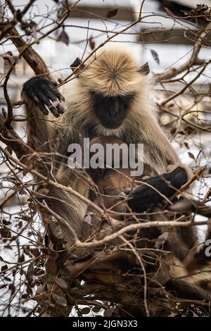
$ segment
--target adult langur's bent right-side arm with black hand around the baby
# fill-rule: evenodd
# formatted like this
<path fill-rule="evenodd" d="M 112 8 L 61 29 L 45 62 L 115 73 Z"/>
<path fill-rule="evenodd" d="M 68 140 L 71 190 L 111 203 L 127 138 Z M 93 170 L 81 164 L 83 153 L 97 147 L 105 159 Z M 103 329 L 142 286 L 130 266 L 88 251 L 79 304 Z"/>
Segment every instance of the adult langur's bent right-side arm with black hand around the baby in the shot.
<path fill-rule="evenodd" d="M 170 198 L 191 178 L 191 170 L 180 163 L 179 157 L 155 118 L 148 118 L 141 131 L 146 163 L 155 168 L 160 175 L 146 180 L 146 184 L 151 187 L 136 187 L 129 196 L 129 207 L 135 212 L 141 212 L 162 202 L 164 196 Z"/>

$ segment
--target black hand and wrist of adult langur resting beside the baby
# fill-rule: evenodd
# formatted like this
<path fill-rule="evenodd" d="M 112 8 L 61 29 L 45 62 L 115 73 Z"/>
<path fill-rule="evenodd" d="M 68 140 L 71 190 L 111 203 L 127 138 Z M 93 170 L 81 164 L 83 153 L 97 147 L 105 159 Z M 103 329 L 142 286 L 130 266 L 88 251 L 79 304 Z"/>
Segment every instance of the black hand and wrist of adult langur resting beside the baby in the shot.
<path fill-rule="evenodd" d="M 182 167 L 174 169 L 171 173 L 163 173 L 146 180 L 146 184 L 136 187 L 127 204 L 132 211 L 141 213 L 155 204 L 169 199 L 188 180 L 186 170 Z"/>

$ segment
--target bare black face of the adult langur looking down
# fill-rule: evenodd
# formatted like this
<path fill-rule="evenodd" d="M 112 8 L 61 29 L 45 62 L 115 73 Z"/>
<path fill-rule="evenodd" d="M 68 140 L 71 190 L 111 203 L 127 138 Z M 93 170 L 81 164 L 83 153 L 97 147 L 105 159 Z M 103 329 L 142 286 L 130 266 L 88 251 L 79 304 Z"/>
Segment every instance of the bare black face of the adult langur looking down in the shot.
<path fill-rule="evenodd" d="M 127 115 L 133 95 L 103 96 L 92 92 L 94 112 L 103 127 L 117 129 Z"/>

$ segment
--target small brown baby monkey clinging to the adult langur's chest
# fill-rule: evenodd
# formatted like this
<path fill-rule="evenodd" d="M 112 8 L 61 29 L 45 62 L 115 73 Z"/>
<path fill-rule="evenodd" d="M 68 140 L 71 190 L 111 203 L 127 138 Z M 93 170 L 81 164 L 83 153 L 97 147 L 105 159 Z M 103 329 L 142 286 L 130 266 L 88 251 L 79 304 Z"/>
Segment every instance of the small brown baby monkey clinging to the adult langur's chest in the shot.
<path fill-rule="evenodd" d="M 125 152 L 125 150 L 121 149 L 121 145 L 124 144 L 122 139 L 117 137 L 97 137 L 90 140 L 90 149 L 94 144 L 101 144 L 103 146 L 104 151 L 104 168 L 89 168 L 87 169 L 87 173 L 91 177 L 91 180 L 94 181 L 96 185 L 96 189 L 91 189 L 90 191 L 90 199 L 96 205 L 101 208 L 106 208 L 110 211 L 113 218 L 124 219 L 125 216 L 121 215 L 121 213 L 128 213 L 130 211 L 130 206 L 128 208 L 129 201 L 129 193 L 132 190 L 141 184 L 140 181 L 146 180 L 148 177 L 156 176 L 156 171 L 151 168 L 150 165 L 143 163 L 143 171 L 139 176 L 132 176 L 132 172 L 134 168 L 131 167 L 129 162 L 129 149 Z M 112 166 L 106 165 L 107 152 L 106 146 L 116 144 L 120 146 L 119 153 L 117 157 L 119 158 L 119 165 L 115 168 L 114 158 L 115 151 L 111 155 Z M 125 146 L 125 145 L 124 145 Z M 92 156 L 92 153 L 90 153 Z M 127 168 L 124 168 L 124 161 L 127 158 Z M 135 162 L 139 161 L 139 156 L 135 154 Z M 139 162 L 142 162 L 141 160 Z M 146 209 L 148 205 L 146 206 Z M 143 211 L 143 208 L 139 208 L 139 211 Z M 137 212 L 139 212 L 137 211 Z"/>

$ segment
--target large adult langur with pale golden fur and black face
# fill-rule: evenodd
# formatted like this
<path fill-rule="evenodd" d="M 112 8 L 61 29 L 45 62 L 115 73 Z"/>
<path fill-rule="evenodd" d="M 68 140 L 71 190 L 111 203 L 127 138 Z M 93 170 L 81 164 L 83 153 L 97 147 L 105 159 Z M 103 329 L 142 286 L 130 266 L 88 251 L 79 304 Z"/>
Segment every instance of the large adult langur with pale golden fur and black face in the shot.
<path fill-rule="evenodd" d="M 23 85 L 27 110 L 28 143 L 39 153 L 34 167 L 51 180 L 71 186 L 89 196 L 89 185 L 79 171 L 68 167 L 68 146 L 80 137 L 101 135 L 119 137 L 123 142 L 143 143 L 144 162 L 159 174 L 134 189 L 129 207 L 139 212 L 148 204 L 157 204 L 163 195 L 170 197 L 191 177 L 191 170 L 181 165 L 179 157 L 158 125 L 157 112 L 151 104 L 148 67 L 141 68 L 132 54 L 113 46 L 102 48 L 79 68 L 63 96 L 44 77 L 32 77 Z M 45 201 L 79 235 L 87 205 L 62 189 L 46 185 Z M 61 225 L 69 244 L 72 235 Z"/>

